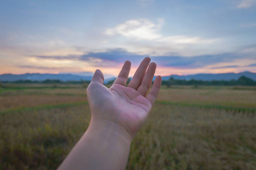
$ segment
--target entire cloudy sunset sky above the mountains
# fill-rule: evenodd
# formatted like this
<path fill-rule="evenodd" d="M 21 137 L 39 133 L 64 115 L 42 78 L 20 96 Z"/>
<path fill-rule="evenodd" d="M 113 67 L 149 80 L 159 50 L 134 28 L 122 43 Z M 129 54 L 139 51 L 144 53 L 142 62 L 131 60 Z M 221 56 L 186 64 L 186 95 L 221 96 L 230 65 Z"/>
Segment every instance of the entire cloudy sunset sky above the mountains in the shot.
<path fill-rule="evenodd" d="M 0 2 L 0 74 L 256 73 L 256 0 Z"/>

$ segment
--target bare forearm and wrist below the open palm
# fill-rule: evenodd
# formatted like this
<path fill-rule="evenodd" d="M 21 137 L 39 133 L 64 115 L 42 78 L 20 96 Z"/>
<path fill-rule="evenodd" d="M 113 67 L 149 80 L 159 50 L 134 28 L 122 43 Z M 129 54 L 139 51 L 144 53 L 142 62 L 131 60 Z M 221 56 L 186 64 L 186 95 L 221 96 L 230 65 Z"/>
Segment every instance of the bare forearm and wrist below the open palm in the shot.
<path fill-rule="evenodd" d="M 92 120 L 59 169 L 125 169 L 131 137 L 108 120 Z"/>

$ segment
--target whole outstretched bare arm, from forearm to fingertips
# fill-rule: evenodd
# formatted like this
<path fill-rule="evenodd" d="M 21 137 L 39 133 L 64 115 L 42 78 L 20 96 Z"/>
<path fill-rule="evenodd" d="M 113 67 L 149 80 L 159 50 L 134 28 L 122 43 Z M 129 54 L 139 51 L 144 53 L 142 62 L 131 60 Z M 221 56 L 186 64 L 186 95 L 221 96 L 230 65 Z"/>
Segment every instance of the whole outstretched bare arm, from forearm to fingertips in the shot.
<path fill-rule="evenodd" d="M 130 67 L 126 61 L 110 88 L 103 85 L 104 75 L 96 70 L 87 89 L 92 114 L 89 128 L 59 169 L 125 169 L 131 142 L 146 121 L 162 82 L 156 76 L 150 90 L 156 64 L 146 57 L 125 87 Z"/>

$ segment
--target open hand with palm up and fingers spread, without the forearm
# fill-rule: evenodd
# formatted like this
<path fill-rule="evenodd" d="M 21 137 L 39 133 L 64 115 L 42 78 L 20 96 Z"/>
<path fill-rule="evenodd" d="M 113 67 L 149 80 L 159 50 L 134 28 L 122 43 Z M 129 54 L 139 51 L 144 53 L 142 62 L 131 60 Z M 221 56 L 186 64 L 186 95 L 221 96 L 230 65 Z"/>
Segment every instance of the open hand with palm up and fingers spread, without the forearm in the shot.
<path fill-rule="evenodd" d="M 130 135 L 128 138 L 135 136 L 146 121 L 162 82 L 161 76 L 156 76 L 148 93 L 156 69 L 156 63 L 150 63 L 150 60 L 149 57 L 143 59 L 127 87 L 125 84 L 131 68 L 130 61 L 124 63 L 110 88 L 103 85 L 104 75 L 96 70 L 87 89 L 91 124 L 101 124 L 105 128 L 115 124 L 118 129 L 126 130 Z"/>

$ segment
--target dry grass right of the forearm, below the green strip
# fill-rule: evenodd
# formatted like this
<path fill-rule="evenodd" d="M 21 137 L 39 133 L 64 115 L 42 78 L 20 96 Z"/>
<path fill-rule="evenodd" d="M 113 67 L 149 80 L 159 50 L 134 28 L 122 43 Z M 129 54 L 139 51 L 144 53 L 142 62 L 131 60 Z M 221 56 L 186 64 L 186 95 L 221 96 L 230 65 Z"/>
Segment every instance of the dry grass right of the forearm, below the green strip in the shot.
<path fill-rule="evenodd" d="M 156 104 L 127 169 L 254 169 L 254 114 Z"/>

